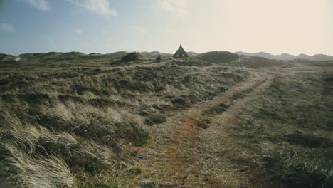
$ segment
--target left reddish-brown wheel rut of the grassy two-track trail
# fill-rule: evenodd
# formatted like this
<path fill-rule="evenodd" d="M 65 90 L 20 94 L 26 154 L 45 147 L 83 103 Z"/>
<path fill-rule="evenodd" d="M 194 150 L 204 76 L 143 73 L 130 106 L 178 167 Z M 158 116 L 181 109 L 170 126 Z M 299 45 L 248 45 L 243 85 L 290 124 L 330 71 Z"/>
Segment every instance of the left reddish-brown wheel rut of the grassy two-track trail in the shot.
<path fill-rule="evenodd" d="M 157 146 L 160 147 L 159 150 L 164 152 L 157 157 L 150 158 L 152 161 L 147 160 L 142 163 L 144 166 L 142 167 L 144 168 L 143 173 L 134 180 L 134 184 L 144 182 L 147 179 L 154 183 L 158 182 L 159 187 L 169 185 L 174 187 L 203 187 L 208 184 L 210 184 L 208 187 L 216 187 L 217 184 L 220 184 L 221 179 L 207 178 L 209 175 L 203 169 L 203 164 L 199 164 L 202 152 L 200 148 L 201 132 L 204 129 L 209 129 L 211 119 L 215 115 L 221 115 L 233 105 L 231 104 L 231 96 L 234 93 L 253 87 L 257 88 L 258 85 L 263 83 L 262 80 L 263 76 L 255 73 L 254 78 L 239 83 L 213 100 L 206 100 L 198 105 L 193 105 L 188 110 L 183 110 L 178 116 L 171 117 L 173 120 L 168 119 L 169 124 L 172 121 L 177 122 L 179 120 L 184 120 L 184 122 L 181 125 L 176 125 L 179 128 L 171 129 L 174 133 L 172 137 L 169 137 L 169 142 L 164 142 L 165 146 Z M 184 119 L 184 116 L 187 118 Z M 177 119 L 177 117 L 180 119 Z M 156 150 L 154 147 L 149 150 Z M 152 167 L 154 169 L 150 169 Z"/>

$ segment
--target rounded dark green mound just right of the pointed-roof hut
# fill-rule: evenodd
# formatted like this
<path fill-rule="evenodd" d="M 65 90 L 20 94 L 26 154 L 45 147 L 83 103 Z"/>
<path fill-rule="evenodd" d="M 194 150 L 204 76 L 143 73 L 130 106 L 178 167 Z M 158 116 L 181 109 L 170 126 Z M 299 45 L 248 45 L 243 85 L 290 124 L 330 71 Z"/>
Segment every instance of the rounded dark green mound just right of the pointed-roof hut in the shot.
<path fill-rule="evenodd" d="M 208 63 L 228 63 L 239 58 L 238 54 L 230 53 L 228 51 L 211 51 L 207 53 L 201 53 L 193 58 Z"/>

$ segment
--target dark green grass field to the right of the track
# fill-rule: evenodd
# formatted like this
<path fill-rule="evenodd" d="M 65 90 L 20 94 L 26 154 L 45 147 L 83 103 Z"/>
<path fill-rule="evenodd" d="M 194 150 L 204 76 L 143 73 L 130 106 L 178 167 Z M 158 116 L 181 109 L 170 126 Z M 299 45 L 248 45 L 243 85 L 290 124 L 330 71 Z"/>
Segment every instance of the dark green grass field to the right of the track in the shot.
<path fill-rule="evenodd" d="M 327 74 L 326 74 L 327 75 Z M 278 77 L 238 117 L 233 136 L 270 182 L 333 187 L 331 97 L 322 73 Z M 306 81 L 305 81 L 306 80 Z M 329 81 L 329 80 L 328 80 Z M 261 157 L 258 156 L 258 153 Z"/>

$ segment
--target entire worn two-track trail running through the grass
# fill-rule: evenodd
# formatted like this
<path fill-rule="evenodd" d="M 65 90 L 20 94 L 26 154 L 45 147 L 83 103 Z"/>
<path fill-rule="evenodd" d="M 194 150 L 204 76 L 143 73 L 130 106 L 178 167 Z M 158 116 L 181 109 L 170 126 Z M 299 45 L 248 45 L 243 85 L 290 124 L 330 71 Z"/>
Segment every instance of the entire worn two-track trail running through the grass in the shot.
<path fill-rule="evenodd" d="M 136 167 L 142 169 L 142 173 L 129 180 L 129 187 L 140 187 L 143 184 L 148 187 L 154 184 L 155 187 L 221 187 L 225 177 L 212 174 L 214 167 L 209 162 L 206 164 L 206 155 L 211 153 L 208 150 L 214 150 L 211 147 L 216 142 L 228 147 L 228 140 L 211 140 L 207 145 L 206 141 L 211 138 L 209 134 L 224 131 L 250 98 L 270 85 L 272 79 L 273 75 L 251 71 L 250 78 L 228 91 L 173 113 L 165 123 L 153 126 L 149 130 L 151 139 L 139 150 L 137 157 Z M 247 95 L 238 100 L 231 99 L 233 95 L 242 92 L 247 92 Z M 221 103 L 230 107 L 224 113 L 211 116 L 211 127 L 206 130 L 199 128 L 198 120 L 205 117 L 205 112 Z"/>

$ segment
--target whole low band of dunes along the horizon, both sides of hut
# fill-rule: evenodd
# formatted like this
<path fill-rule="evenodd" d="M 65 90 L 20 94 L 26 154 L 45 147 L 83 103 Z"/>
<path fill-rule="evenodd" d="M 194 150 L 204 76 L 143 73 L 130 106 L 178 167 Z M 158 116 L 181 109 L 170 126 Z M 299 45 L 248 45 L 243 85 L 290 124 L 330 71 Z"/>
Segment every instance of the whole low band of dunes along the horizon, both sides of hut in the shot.
<path fill-rule="evenodd" d="M 125 56 L 127 51 L 117 51 L 115 53 L 81 53 L 81 52 L 48 52 L 48 53 L 22 53 L 18 56 L 11 56 L 8 54 L 0 53 L 0 61 L 68 61 L 68 60 L 93 60 L 93 59 L 117 59 Z M 206 61 L 208 63 L 228 63 L 230 61 L 236 60 L 239 56 L 254 56 L 273 60 L 294 60 L 294 59 L 305 59 L 309 61 L 332 61 L 333 56 L 328 56 L 324 54 L 317 54 L 314 56 L 308 56 L 307 54 L 300 54 L 298 56 L 293 56 L 288 53 L 282 53 L 280 55 L 273 55 L 265 52 L 258 53 L 246 53 L 238 51 L 236 53 L 230 53 L 226 51 L 211 51 L 207 53 L 196 53 L 193 51 L 187 52 L 190 58 L 196 58 L 201 61 Z M 161 55 L 162 58 L 172 58 L 171 53 L 161 53 L 158 51 L 152 52 L 139 52 L 143 58 L 156 58 Z"/>

